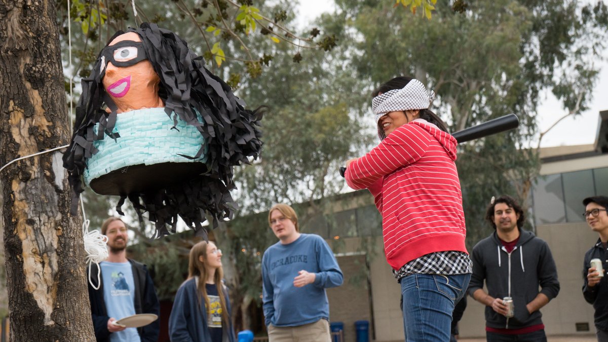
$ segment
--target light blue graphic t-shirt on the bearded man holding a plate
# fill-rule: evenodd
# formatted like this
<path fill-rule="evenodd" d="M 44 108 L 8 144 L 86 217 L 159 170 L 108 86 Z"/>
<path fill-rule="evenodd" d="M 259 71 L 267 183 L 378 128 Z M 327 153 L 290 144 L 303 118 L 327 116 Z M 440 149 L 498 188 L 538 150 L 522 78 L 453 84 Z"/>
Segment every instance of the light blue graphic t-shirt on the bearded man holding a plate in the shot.
<path fill-rule="evenodd" d="M 135 315 L 135 283 L 129 262 L 107 262 L 99 264 L 102 268 L 103 300 L 106 302 L 108 316 L 117 320 Z M 126 328 L 110 334 L 111 342 L 140 342 L 136 328 Z"/>

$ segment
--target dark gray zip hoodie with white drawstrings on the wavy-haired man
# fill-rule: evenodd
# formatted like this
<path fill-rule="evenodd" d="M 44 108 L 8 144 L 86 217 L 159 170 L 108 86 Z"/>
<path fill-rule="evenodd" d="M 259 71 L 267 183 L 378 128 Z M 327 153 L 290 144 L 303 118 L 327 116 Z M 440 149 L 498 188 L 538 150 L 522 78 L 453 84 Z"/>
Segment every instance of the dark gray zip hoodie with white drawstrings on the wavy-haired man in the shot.
<path fill-rule="evenodd" d="M 559 293 L 558 271 L 547 243 L 532 232 L 519 230 L 519 241 L 506 253 L 496 232 L 475 245 L 471 259 L 473 274 L 468 293 L 483 288 L 494 298 L 513 298 L 515 315 L 506 318 L 486 307 L 486 326 L 498 329 L 520 329 L 541 324 L 541 312 L 528 313 L 526 305 L 540 293 L 549 300 Z"/>

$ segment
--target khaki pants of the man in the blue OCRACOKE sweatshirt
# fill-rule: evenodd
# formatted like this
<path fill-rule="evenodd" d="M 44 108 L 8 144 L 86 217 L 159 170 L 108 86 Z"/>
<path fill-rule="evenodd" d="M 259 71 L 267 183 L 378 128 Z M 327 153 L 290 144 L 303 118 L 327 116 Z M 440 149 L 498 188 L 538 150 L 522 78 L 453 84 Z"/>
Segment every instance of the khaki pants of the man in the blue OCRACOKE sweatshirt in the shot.
<path fill-rule="evenodd" d="M 268 326 L 269 342 L 331 342 L 330 323 L 319 319 L 297 327 Z"/>

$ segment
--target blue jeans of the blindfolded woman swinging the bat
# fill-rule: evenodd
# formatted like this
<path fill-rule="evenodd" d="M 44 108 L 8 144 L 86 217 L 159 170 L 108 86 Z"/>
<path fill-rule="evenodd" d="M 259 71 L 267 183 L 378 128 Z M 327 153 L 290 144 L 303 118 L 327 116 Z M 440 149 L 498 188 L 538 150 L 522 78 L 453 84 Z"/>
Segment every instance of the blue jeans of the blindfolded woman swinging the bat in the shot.
<path fill-rule="evenodd" d="M 407 342 L 448 342 L 454 305 L 471 274 L 412 274 L 402 277 L 403 326 Z"/>

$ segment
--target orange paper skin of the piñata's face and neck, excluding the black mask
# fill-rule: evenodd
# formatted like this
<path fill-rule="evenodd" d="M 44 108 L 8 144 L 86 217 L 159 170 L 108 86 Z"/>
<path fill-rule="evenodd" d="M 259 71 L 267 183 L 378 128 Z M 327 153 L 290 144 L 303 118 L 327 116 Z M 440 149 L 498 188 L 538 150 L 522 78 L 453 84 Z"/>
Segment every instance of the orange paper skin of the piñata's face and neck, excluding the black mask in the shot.
<path fill-rule="evenodd" d="M 116 37 L 109 46 L 124 40 L 142 41 L 137 33 L 128 32 Z M 158 96 L 161 80 L 149 60 L 125 67 L 117 67 L 108 61 L 105 71 L 103 87 L 118 106 L 118 113 L 164 106 Z"/>

